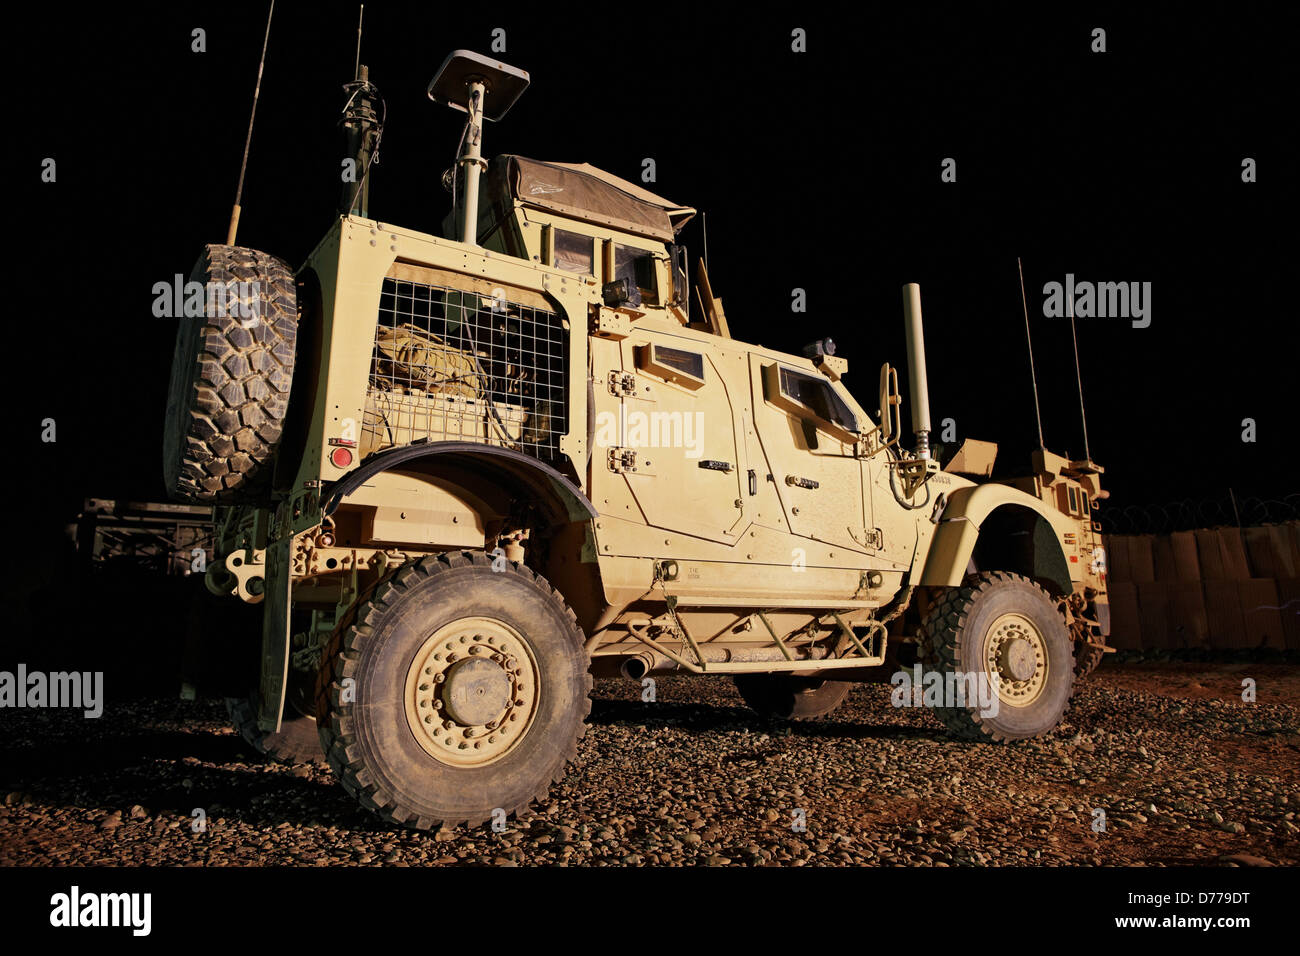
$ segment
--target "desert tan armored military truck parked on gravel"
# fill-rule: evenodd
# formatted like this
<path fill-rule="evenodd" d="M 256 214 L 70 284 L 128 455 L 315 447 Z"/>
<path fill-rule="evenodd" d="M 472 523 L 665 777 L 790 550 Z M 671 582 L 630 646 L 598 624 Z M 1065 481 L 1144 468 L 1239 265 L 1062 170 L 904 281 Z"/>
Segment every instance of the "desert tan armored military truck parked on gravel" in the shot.
<path fill-rule="evenodd" d="M 350 793 L 428 829 L 545 796 L 593 675 L 725 675 L 807 718 L 911 645 L 996 687 L 993 715 L 945 698 L 953 732 L 1056 727 L 1109 630 L 1101 468 L 1040 450 L 994 483 L 985 442 L 941 467 L 915 285 L 910 449 L 889 365 L 868 412 L 828 341 L 733 338 L 688 282 L 693 209 L 481 157 L 526 83 L 464 51 L 430 83 L 467 113 L 442 235 L 356 189 L 296 271 L 234 245 L 195 267 L 244 308 L 182 320 L 165 466 L 216 506 L 209 589 L 261 606 L 246 735 L 282 752 L 315 719 Z"/>

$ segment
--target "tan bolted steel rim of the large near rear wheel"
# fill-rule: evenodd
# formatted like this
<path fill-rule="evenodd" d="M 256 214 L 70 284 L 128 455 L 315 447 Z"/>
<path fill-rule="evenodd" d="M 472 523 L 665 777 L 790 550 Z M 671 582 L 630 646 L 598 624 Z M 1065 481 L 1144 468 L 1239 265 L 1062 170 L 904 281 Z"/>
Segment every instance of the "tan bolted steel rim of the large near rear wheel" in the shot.
<path fill-rule="evenodd" d="M 506 691 L 499 709 L 498 688 Z M 495 618 L 462 618 L 434 631 L 412 658 L 403 693 L 416 743 L 454 767 L 488 766 L 515 749 L 533 726 L 540 697 L 532 648 Z"/>

